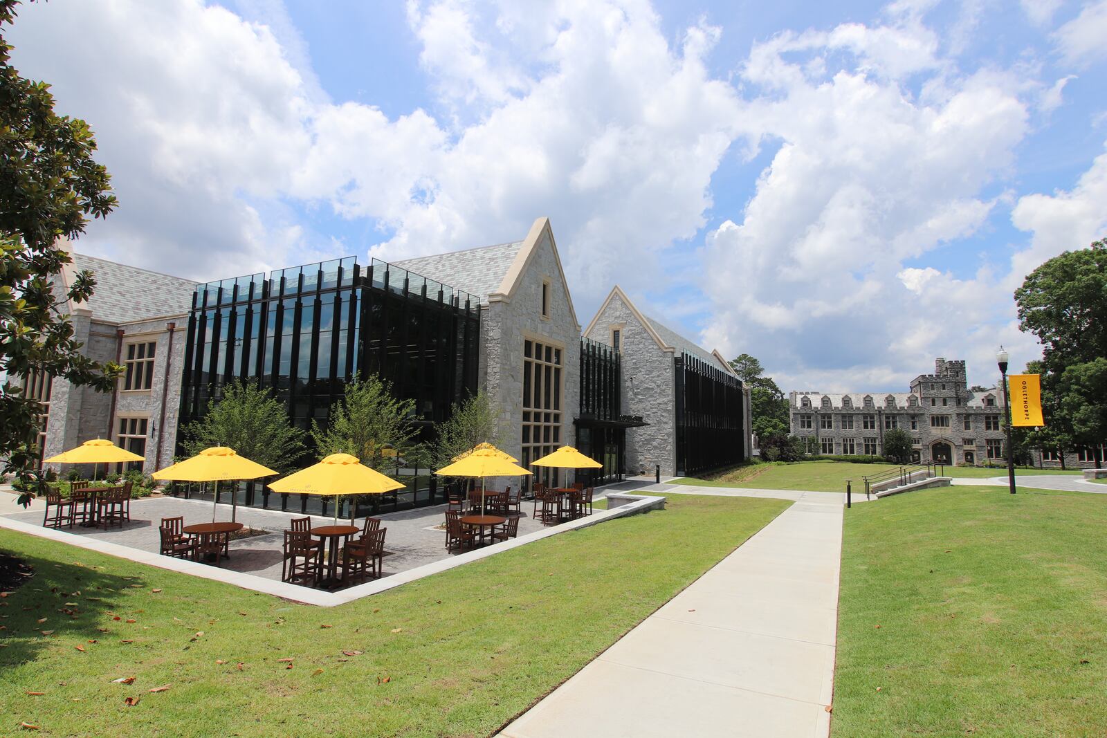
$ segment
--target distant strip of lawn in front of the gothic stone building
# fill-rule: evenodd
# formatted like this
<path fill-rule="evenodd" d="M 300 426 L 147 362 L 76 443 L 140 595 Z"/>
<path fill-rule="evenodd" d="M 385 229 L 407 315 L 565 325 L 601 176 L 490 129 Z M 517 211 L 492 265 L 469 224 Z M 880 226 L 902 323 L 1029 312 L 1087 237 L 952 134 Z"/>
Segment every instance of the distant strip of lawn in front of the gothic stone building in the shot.
<path fill-rule="evenodd" d="M 743 489 L 803 489 L 816 492 L 845 492 L 846 480 L 853 480 L 853 491 L 865 491 L 861 477 L 872 476 L 881 471 L 898 469 L 890 464 L 848 464 L 845 461 L 800 461 L 797 464 L 754 464 L 735 469 L 720 471 L 705 478 L 682 477 L 674 479 L 674 485 L 694 485 L 701 487 L 738 487 Z M 977 467 L 945 467 L 946 477 L 1003 477 L 1006 469 L 982 469 Z M 1061 471 L 1056 469 L 1015 470 L 1016 476 L 1078 475 L 1079 471 Z"/>

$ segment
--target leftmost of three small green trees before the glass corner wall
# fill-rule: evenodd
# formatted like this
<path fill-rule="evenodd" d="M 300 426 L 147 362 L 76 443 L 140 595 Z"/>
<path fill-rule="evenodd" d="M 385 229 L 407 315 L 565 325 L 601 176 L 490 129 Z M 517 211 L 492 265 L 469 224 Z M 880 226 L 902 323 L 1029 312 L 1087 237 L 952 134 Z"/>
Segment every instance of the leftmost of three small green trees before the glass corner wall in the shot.
<path fill-rule="evenodd" d="M 303 455 L 307 434 L 289 423 L 284 404 L 256 382 L 235 381 L 224 387 L 223 399 L 208 403 L 205 415 L 184 428 L 189 456 L 211 446 L 228 446 L 239 456 L 280 472 L 293 470 Z M 237 497 L 231 499 L 231 519 Z"/>

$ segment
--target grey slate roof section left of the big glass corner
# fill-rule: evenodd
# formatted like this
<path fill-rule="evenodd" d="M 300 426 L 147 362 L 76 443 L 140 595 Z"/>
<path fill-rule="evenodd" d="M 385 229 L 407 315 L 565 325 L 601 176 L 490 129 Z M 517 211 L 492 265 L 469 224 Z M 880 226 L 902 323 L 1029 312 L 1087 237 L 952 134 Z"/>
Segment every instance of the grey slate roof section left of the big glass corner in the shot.
<path fill-rule="evenodd" d="M 87 269 L 96 277 L 95 292 L 80 305 L 92 310 L 95 321 L 130 323 L 182 315 L 193 306 L 197 282 L 83 253 L 72 256 L 74 270 Z"/>

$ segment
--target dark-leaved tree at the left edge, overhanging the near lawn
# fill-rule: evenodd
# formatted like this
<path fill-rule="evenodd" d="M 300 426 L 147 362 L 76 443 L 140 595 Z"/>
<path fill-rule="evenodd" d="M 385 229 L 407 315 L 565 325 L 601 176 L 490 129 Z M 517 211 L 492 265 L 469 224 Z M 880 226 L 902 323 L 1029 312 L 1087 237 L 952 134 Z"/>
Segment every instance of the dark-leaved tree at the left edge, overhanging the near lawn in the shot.
<path fill-rule="evenodd" d="M 0 0 L 0 457 L 30 501 L 41 481 L 34 471 L 42 406 L 12 380 L 35 373 L 100 392 L 122 371 L 81 354 L 65 300 L 84 302 L 95 281 L 76 276 L 59 300 L 55 276 L 70 262 L 60 238 L 84 232 L 87 216 L 103 218 L 116 205 L 107 170 L 92 153 L 96 142 L 84 121 L 59 116 L 49 85 L 20 76 L 3 38 L 15 18 L 15 0 Z"/>

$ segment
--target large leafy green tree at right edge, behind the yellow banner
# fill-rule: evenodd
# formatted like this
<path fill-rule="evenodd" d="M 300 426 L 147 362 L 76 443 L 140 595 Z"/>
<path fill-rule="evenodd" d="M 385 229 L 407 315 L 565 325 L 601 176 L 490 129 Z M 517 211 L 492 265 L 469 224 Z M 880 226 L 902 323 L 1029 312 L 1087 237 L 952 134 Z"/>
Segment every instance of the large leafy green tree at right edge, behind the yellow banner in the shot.
<path fill-rule="evenodd" d="M 1066 251 L 1015 290 L 1020 328 L 1042 343 L 1046 423 L 1058 443 L 1096 449 L 1107 438 L 1107 241 Z"/>

